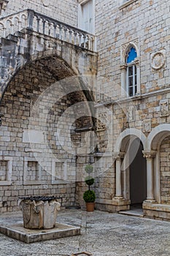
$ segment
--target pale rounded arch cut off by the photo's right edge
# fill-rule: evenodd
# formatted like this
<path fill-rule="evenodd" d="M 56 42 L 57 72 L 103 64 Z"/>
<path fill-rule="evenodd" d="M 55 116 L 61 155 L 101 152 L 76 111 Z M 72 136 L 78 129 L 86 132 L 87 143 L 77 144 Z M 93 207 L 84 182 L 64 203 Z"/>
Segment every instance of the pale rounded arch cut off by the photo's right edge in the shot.
<path fill-rule="evenodd" d="M 148 151 L 156 150 L 160 146 L 161 141 L 169 134 L 170 124 L 158 125 L 158 127 L 152 129 L 152 132 L 148 135 L 145 148 L 147 148 Z"/>

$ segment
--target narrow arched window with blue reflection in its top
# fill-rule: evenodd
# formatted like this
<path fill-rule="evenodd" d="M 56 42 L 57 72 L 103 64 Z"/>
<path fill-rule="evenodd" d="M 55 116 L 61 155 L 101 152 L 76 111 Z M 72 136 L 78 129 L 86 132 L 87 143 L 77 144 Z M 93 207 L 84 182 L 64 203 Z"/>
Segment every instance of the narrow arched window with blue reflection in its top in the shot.
<path fill-rule="evenodd" d="M 137 57 L 136 49 L 131 47 L 126 58 L 126 92 L 134 96 L 137 92 L 137 69 L 134 60 Z"/>

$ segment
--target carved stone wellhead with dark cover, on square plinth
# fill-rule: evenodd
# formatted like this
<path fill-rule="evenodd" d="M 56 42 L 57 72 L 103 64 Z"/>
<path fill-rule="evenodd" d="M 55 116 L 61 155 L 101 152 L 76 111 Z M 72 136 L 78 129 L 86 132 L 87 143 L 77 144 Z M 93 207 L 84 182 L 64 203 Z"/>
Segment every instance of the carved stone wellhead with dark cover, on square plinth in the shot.
<path fill-rule="evenodd" d="M 55 227 L 61 204 L 56 197 L 20 197 L 23 211 L 23 226 L 28 229 L 47 229 Z"/>

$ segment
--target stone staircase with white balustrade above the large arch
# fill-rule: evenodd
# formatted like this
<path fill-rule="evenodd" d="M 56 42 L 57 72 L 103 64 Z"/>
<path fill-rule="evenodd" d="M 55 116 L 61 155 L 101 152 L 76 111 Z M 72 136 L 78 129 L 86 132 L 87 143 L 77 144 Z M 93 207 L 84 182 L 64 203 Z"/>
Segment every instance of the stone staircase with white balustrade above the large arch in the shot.
<path fill-rule="evenodd" d="M 34 10 L 23 10 L 0 18 L 0 98 L 13 75 L 30 61 L 33 54 L 56 48 L 61 42 L 80 50 L 96 51 L 93 34 Z"/>

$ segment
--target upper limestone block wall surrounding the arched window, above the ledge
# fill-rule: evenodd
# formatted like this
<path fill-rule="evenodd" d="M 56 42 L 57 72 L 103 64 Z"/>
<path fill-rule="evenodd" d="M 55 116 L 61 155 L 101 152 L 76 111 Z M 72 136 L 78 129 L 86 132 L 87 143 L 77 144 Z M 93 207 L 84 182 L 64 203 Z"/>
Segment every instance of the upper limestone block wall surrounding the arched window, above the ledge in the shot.
<path fill-rule="evenodd" d="M 121 95 L 121 45 L 139 47 L 141 93 L 169 86 L 169 1 L 96 1 L 98 90 L 116 99 Z M 157 63 L 160 61 L 160 64 Z"/>

